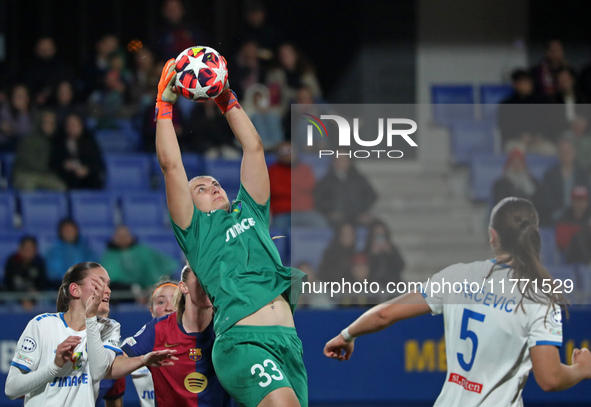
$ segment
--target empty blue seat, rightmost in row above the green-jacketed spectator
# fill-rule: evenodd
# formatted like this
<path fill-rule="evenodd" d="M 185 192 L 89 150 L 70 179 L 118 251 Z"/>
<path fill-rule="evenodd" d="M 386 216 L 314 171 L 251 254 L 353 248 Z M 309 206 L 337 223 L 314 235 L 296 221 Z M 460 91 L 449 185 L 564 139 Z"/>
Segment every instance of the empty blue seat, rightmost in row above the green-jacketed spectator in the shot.
<path fill-rule="evenodd" d="M 168 224 L 164 192 L 130 192 L 121 195 L 121 218 L 130 229 Z"/>

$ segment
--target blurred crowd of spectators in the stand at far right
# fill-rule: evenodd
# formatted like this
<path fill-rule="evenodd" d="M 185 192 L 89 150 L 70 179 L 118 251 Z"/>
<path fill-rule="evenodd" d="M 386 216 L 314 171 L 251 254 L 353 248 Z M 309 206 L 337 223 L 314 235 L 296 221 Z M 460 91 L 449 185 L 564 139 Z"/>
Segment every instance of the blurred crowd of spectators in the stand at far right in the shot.
<path fill-rule="evenodd" d="M 493 199 L 520 196 L 534 202 L 543 227 L 555 228 L 566 263 L 591 261 L 591 64 L 577 71 L 563 44 L 547 43 L 544 58 L 512 74 L 513 92 L 498 109 L 498 127 L 508 153 Z M 526 154 L 556 156 L 539 181 Z"/>

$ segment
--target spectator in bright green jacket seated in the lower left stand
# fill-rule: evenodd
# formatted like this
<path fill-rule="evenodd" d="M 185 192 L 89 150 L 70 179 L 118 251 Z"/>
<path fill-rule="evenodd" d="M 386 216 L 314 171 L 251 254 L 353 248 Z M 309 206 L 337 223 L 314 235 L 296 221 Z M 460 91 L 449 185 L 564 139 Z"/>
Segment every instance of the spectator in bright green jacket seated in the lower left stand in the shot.
<path fill-rule="evenodd" d="M 138 243 L 125 225 L 115 228 L 101 264 L 109 270 L 115 289 L 129 289 L 134 285 L 150 288 L 163 275 L 172 275 L 180 266 L 178 259 Z"/>

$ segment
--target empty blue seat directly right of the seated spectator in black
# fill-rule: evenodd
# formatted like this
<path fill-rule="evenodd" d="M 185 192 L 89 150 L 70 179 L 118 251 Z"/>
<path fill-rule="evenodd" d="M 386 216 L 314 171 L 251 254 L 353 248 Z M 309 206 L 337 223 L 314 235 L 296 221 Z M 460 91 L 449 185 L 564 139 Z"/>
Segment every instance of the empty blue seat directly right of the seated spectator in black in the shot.
<path fill-rule="evenodd" d="M 107 189 L 141 191 L 150 189 L 150 157 L 144 154 L 109 154 Z"/>

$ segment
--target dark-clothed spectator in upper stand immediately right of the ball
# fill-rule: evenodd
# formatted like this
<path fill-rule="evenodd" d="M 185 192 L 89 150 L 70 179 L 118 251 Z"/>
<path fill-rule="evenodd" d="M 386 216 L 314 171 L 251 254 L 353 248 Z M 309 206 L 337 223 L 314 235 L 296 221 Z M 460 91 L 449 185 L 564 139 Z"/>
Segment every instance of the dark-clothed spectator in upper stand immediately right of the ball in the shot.
<path fill-rule="evenodd" d="M 232 72 L 232 88 L 235 89 L 239 100 L 246 99 L 246 90 L 265 79 L 258 44 L 254 41 L 242 43 L 238 55 L 231 63 L 234 64 L 229 67 L 229 71 Z"/>

